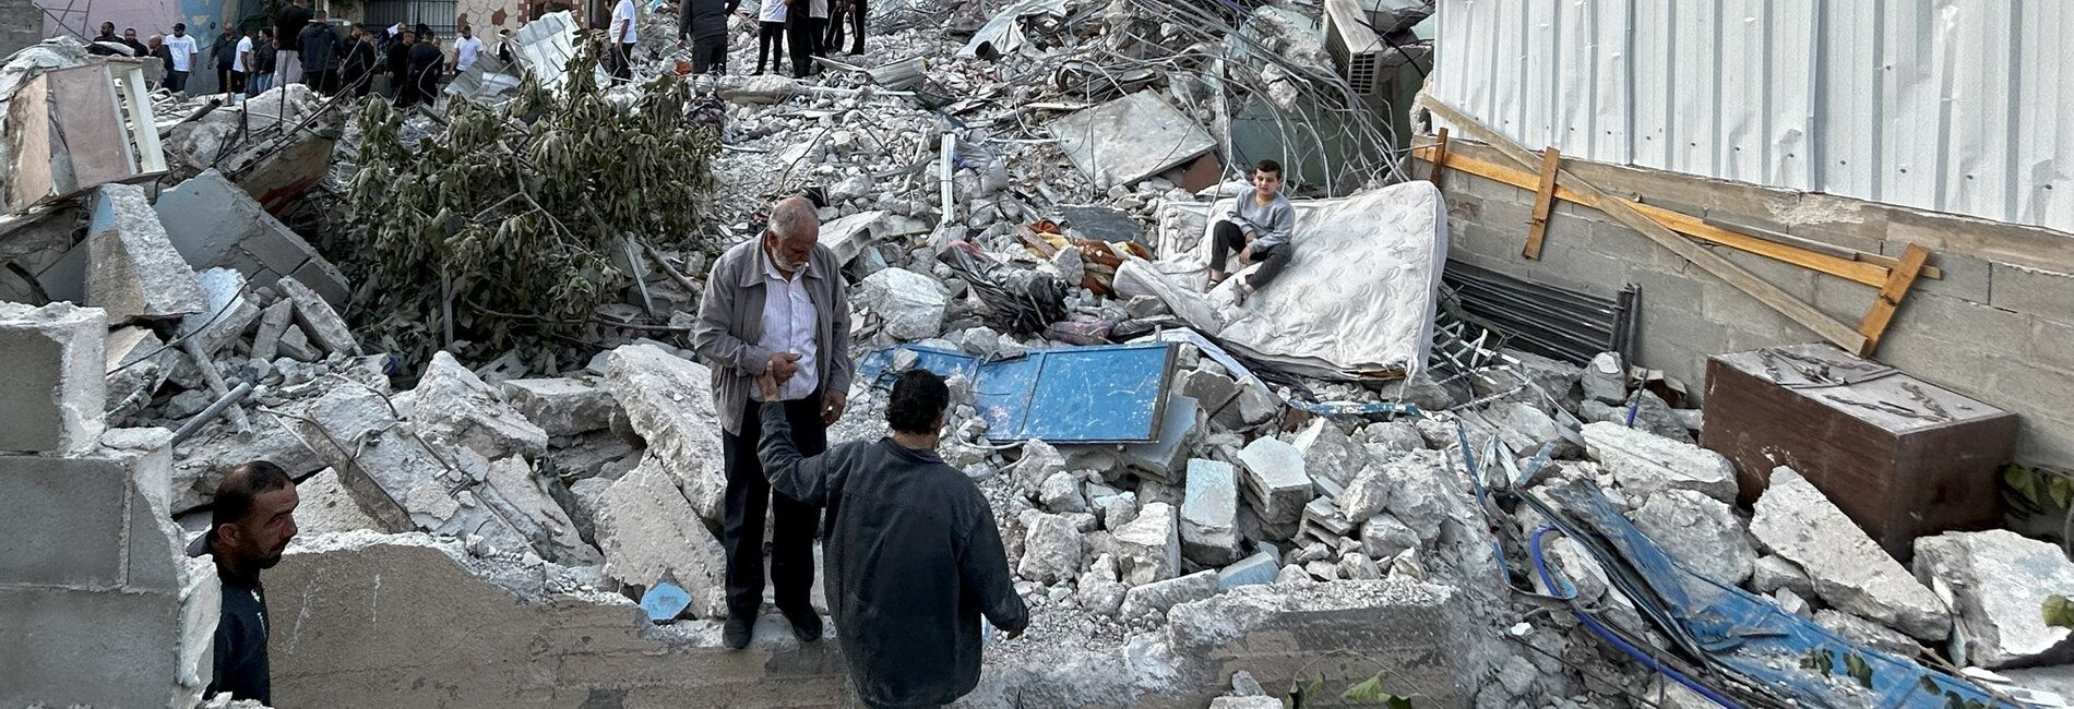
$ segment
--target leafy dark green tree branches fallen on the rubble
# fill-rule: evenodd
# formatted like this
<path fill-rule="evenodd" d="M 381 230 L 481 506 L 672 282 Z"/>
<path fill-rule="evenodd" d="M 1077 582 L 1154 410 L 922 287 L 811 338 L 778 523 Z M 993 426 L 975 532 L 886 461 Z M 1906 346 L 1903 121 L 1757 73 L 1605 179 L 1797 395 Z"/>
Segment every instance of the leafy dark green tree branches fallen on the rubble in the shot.
<path fill-rule="evenodd" d="M 560 93 L 529 75 L 502 108 L 454 97 L 446 131 L 417 145 L 386 102 L 361 108 L 332 261 L 357 284 L 365 338 L 407 363 L 454 342 L 568 340 L 626 288 L 614 257 L 628 259 L 628 236 L 680 245 L 699 230 L 718 126 L 676 77 L 610 93 L 595 66 L 581 50 Z"/>

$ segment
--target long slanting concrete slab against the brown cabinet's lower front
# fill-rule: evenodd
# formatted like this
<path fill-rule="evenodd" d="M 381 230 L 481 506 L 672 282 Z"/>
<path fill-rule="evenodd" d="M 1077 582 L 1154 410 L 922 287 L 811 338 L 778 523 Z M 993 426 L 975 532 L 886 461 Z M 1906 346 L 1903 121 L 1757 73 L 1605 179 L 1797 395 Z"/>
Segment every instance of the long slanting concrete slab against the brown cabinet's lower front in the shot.
<path fill-rule="evenodd" d="M 1952 634 L 1952 614 L 1943 601 L 1794 469 L 1771 471 L 1771 487 L 1757 498 L 1750 535 L 1773 554 L 1800 564 L 1815 583 L 1815 593 L 1835 609 L 1923 641 Z"/>

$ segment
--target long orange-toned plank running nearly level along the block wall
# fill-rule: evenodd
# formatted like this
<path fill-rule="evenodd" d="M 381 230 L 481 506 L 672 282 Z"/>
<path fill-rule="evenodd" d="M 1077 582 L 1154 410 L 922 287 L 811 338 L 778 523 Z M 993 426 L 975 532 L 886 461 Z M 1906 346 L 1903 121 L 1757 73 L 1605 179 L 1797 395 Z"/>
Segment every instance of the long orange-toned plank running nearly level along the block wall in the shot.
<path fill-rule="evenodd" d="M 1414 149 L 1412 158 L 1433 160 L 1433 149 L 1431 147 Z M 1535 189 L 1535 174 L 1533 172 L 1512 170 L 1512 168 L 1506 168 L 1506 166 L 1500 166 L 1500 164 L 1493 164 L 1493 162 L 1485 162 L 1485 160 L 1477 160 L 1477 158 L 1466 158 L 1466 155 L 1448 158 L 1448 168 L 1462 170 L 1462 172 L 1468 172 L 1468 174 L 1475 174 L 1475 176 L 1481 176 L 1481 178 L 1487 178 L 1487 180 L 1512 185 L 1512 187 L 1518 187 L 1518 189 Z M 1599 207 L 1595 201 L 1585 199 L 1585 195 L 1568 191 L 1562 185 L 1555 185 L 1555 199 L 1580 203 L 1580 205 L 1587 205 L 1587 207 L 1593 207 L 1593 209 Z M 1680 234 L 1686 234 L 1686 236 L 1692 236 L 1692 238 L 1699 238 L 1699 240 L 1709 240 L 1709 243 L 1717 243 L 1717 245 L 1723 245 L 1723 247 L 1732 247 L 1732 249 L 1738 249 L 1738 251 L 1748 251 L 1748 253 L 1755 253 L 1755 255 L 1761 255 L 1761 257 L 1767 257 L 1767 259 L 1777 259 L 1777 261 L 1794 263 L 1794 265 L 1800 265 L 1800 267 L 1817 270 L 1817 272 L 1823 272 L 1823 274 L 1829 274 L 1829 276 L 1835 276 L 1835 278 L 1844 278 L 1844 280 L 1850 280 L 1850 282 L 1867 284 L 1867 286 L 1873 286 L 1873 288 L 1885 286 L 1887 284 L 1887 272 L 1894 270 L 1894 265 L 1900 263 L 1894 257 L 1885 257 L 1885 255 L 1877 255 L 1877 253 L 1862 253 L 1862 251 L 1856 251 L 1854 257 L 1844 259 L 1844 257 L 1838 257 L 1838 255 L 1809 251 L 1809 249 L 1794 247 L 1794 245 L 1782 245 L 1782 243 L 1775 243 L 1775 240 L 1769 240 L 1769 238 L 1757 238 L 1757 236 L 1750 236 L 1750 234 L 1732 232 L 1732 230 L 1707 224 L 1701 218 L 1682 214 L 1682 211 L 1672 211 L 1672 209 L 1663 209 L 1663 207 L 1649 205 L 1649 203 L 1638 203 L 1638 201 L 1630 203 L 1630 205 L 1634 207 L 1634 211 L 1641 211 L 1643 216 L 1647 216 L 1647 218 L 1651 218 L 1651 220 L 1655 220 L 1655 222 L 1659 222 L 1663 226 L 1670 226 L 1674 232 L 1680 232 Z M 1937 280 L 1937 278 L 1943 278 L 1943 274 L 1937 272 L 1935 265 L 1925 265 L 1923 274 L 1918 274 L 1916 278 Z"/>

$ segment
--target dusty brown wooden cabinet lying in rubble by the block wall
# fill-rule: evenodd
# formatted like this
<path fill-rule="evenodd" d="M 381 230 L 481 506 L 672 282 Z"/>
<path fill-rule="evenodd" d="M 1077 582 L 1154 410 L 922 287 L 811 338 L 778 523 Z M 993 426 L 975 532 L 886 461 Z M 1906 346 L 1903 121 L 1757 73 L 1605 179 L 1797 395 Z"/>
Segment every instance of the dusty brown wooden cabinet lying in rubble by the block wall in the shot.
<path fill-rule="evenodd" d="M 1902 562 L 1921 535 L 2001 522 L 2016 417 L 1894 367 L 1829 344 L 1717 354 L 1703 410 L 1744 506 L 1790 466 Z"/>

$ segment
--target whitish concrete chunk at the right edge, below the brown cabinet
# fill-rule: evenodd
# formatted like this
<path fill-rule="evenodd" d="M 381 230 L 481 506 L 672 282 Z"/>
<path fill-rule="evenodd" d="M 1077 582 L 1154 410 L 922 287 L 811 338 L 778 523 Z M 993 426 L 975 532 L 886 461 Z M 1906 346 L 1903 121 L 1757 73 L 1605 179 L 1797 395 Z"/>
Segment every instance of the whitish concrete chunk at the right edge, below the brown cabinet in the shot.
<path fill-rule="evenodd" d="M 1916 580 L 1950 599 L 1960 665 L 2024 668 L 2074 659 L 2074 630 L 2039 612 L 2051 595 L 2074 597 L 2074 562 L 2059 547 L 2008 529 L 1916 539 Z"/>

